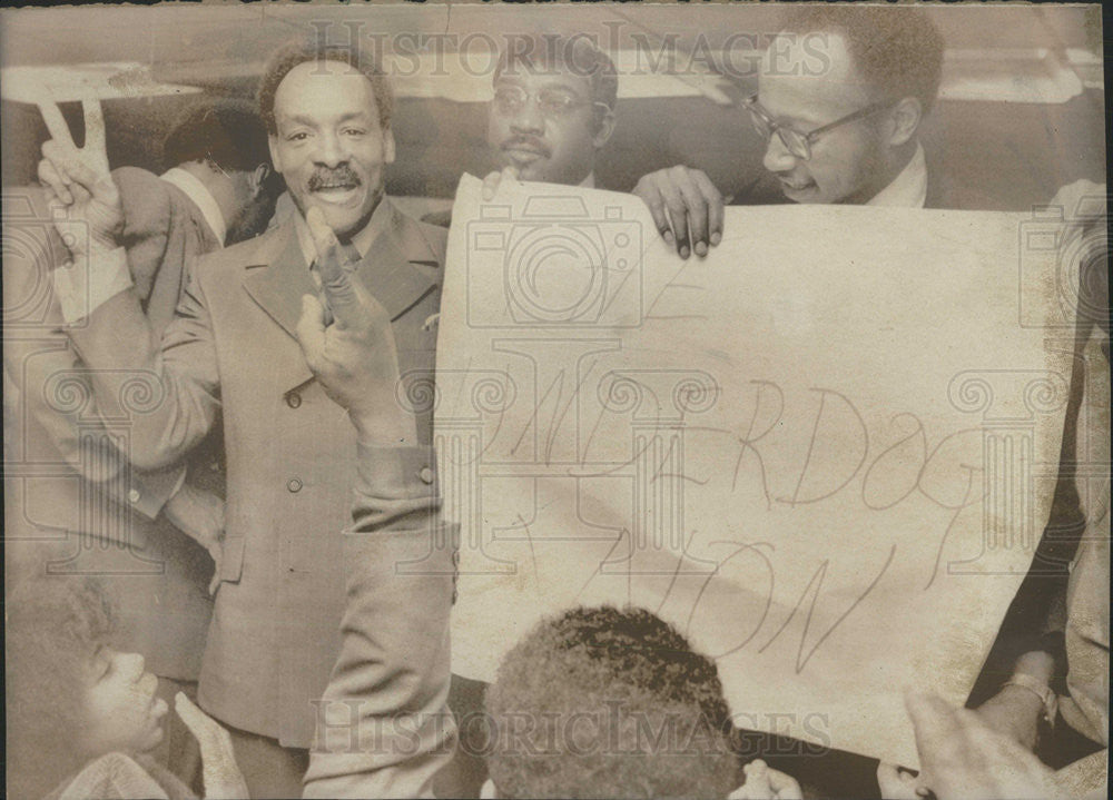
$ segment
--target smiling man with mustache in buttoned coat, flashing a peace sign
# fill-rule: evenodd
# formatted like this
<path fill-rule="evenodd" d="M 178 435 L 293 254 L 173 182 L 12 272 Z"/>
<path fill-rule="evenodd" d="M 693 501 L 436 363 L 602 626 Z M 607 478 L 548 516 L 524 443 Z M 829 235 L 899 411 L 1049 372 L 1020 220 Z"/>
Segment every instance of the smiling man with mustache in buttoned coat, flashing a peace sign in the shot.
<path fill-rule="evenodd" d="M 253 798 L 302 793 L 318 708 L 341 650 L 342 618 L 346 631 L 375 624 L 353 618 L 357 612 L 345 604 L 352 542 L 338 532 L 348 522 L 357 467 L 361 481 L 390 488 L 378 510 L 387 523 L 408 518 L 392 511 L 397 501 L 434 494 L 432 409 L 418 409 L 412 431 L 384 444 L 329 399 L 297 338 L 312 298 L 323 298 L 323 325 L 333 317 L 322 294 L 326 273 L 316 268 L 321 237 L 311 233 L 308 217 L 335 234 L 344 268 L 385 309 L 404 382 L 377 376 L 388 381 L 386 394 L 405 405 L 408 385 L 432 375 L 436 333 L 424 323 L 440 305 L 445 231 L 406 217 L 384 196 L 385 169 L 394 160 L 392 108 L 385 75 L 358 49 L 298 45 L 275 53 L 259 87 L 259 111 L 296 213 L 198 263 L 160 344 L 131 289 L 108 297 L 70 330 L 98 369 L 93 383 L 105 414 L 120 413 L 121 375 L 142 371 L 158 378 L 160 402 L 132 415 L 137 465 L 173 463 L 205 436 L 218 412 L 223 417 L 227 524 L 198 702 L 228 728 Z M 72 176 L 82 171 L 80 160 L 60 156 L 55 166 Z M 107 176 L 85 177 L 98 197 Z M 101 216 L 88 219 L 97 231 L 90 250 L 76 254 L 88 259 L 98 284 L 110 282 L 119 266 Z M 352 423 L 364 443 L 358 454 L 351 446 Z M 403 744 L 376 751 L 384 796 L 427 793 L 452 751 L 447 643 L 420 631 L 408 643 L 398 680 L 364 685 L 357 674 L 354 681 L 366 690 L 354 714 L 398 709 L 420 721 Z M 396 663 L 396 653 L 378 655 Z M 329 783 L 345 773 L 345 758 L 366 758 L 314 755 L 307 792 L 323 796 L 348 789 Z"/>

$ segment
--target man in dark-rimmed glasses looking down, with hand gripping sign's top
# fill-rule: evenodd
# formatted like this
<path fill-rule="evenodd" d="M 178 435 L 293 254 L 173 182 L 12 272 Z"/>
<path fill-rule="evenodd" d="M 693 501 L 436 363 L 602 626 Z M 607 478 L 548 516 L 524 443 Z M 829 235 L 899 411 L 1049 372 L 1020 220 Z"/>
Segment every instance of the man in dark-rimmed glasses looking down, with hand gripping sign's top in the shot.
<path fill-rule="evenodd" d="M 943 39 L 919 10 L 808 7 L 762 58 L 746 113 L 764 166 L 794 203 L 951 205 L 917 132 L 939 86 Z M 702 171 L 644 176 L 634 194 L 688 257 L 722 236 L 723 197 Z M 739 198 L 745 201 L 745 198 Z"/>

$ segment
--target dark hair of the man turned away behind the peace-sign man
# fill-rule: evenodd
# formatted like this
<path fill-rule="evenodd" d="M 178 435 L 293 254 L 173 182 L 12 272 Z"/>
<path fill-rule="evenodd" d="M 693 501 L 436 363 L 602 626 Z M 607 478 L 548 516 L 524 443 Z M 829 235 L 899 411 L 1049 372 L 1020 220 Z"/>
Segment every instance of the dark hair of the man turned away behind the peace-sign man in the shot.
<path fill-rule="evenodd" d="M 267 131 L 248 100 L 206 99 L 179 115 L 162 141 L 167 168 L 205 161 L 230 171 L 249 172 L 270 164 Z"/>

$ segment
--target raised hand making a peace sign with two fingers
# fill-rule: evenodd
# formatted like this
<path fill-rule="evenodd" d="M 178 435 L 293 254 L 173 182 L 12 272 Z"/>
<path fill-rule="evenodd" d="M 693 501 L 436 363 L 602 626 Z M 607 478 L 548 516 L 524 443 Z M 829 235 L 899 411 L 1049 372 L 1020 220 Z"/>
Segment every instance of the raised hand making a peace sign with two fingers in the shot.
<path fill-rule="evenodd" d="M 42 145 L 39 180 L 53 192 L 65 215 L 55 215 L 55 227 L 75 258 L 89 250 L 111 250 L 124 229 L 120 192 L 108 168 L 105 116 L 98 100 L 82 100 L 85 146 L 73 144 L 57 103 L 39 103 L 50 139 Z"/>

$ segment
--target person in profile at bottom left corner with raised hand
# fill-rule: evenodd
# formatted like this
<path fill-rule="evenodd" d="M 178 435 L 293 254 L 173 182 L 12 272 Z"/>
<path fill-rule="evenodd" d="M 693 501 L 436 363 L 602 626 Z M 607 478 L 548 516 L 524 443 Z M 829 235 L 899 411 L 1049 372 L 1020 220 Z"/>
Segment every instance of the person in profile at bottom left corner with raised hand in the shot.
<path fill-rule="evenodd" d="M 99 583 L 21 581 L 6 616 L 9 797 L 194 797 L 149 754 L 169 709 L 144 656 L 112 649 L 118 631 Z M 181 692 L 175 710 L 200 745 L 205 796 L 246 798 L 227 731 Z"/>

